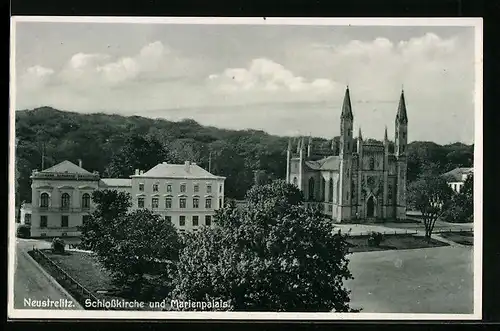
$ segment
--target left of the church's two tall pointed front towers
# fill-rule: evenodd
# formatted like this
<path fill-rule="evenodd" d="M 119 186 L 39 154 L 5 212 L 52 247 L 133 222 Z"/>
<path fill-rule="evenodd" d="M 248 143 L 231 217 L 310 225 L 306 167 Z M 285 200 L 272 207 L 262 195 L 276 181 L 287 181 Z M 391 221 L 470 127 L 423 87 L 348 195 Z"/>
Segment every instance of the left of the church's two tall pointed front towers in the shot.
<path fill-rule="evenodd" d="M 342 113 L 340 114 L 340 173 L 339 173 L 339 194 L 337 200 L 337 221 L 351 219 L 351 169 L 353 150 L 353 121 L 351 96 L 349 86 L 347 86 Z"/>

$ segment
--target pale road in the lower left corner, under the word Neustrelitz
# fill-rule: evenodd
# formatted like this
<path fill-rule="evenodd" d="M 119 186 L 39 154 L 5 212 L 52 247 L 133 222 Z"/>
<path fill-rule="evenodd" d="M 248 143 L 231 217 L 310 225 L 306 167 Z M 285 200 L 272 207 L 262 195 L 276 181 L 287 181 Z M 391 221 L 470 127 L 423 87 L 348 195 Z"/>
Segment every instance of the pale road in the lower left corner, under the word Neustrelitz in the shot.
<path fill-rule="evenodd" d="M 64 305 L 66 307 L 51 307 L 49 308 L 51 310 L 83 309 L 52 277 L 44 273 L 38 264 L 31 259 L 27 251 L 34 245 L 38 248 L 45 248 L 50 246 L 50 243 L 32 239 L 17 239 L 14 272 L 14 308 L 34 309 L 26 304 L 26 301 L 31 299 L 65 302 Z M 66 304 L 67 302 L 71 303 Z"/>

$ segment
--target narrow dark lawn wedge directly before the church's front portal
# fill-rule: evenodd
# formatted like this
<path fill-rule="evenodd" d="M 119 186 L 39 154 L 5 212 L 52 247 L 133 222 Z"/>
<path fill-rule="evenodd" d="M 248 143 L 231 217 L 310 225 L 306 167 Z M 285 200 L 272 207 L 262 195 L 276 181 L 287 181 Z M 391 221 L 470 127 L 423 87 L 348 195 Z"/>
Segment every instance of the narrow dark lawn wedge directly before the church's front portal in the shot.
<path fill-rule="evenodd" d="M 428 241 L 424 237 L 414 235 L 387 235 L 384 238 L 377 247 L 368 245 L 368 236 L 350 237 L 347 242 L 352 253 L 448 246 L 438 240 Z"/>

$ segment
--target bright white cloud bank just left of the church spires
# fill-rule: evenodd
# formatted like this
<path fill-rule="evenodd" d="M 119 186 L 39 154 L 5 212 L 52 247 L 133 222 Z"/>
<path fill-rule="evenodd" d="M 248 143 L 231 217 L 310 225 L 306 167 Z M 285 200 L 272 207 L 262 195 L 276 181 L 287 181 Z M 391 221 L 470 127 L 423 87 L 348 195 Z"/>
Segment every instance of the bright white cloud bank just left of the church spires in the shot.
<path fill-rule="evenodd" d="M 283 65 L 270 59 L 258 58 L 247 68 L 228 68 L 208 77 L 212 86 L 223 92 L 317 92 L 328 93 L 335 88 L 329 79 L 308 80 L 294 75 Z"/>

